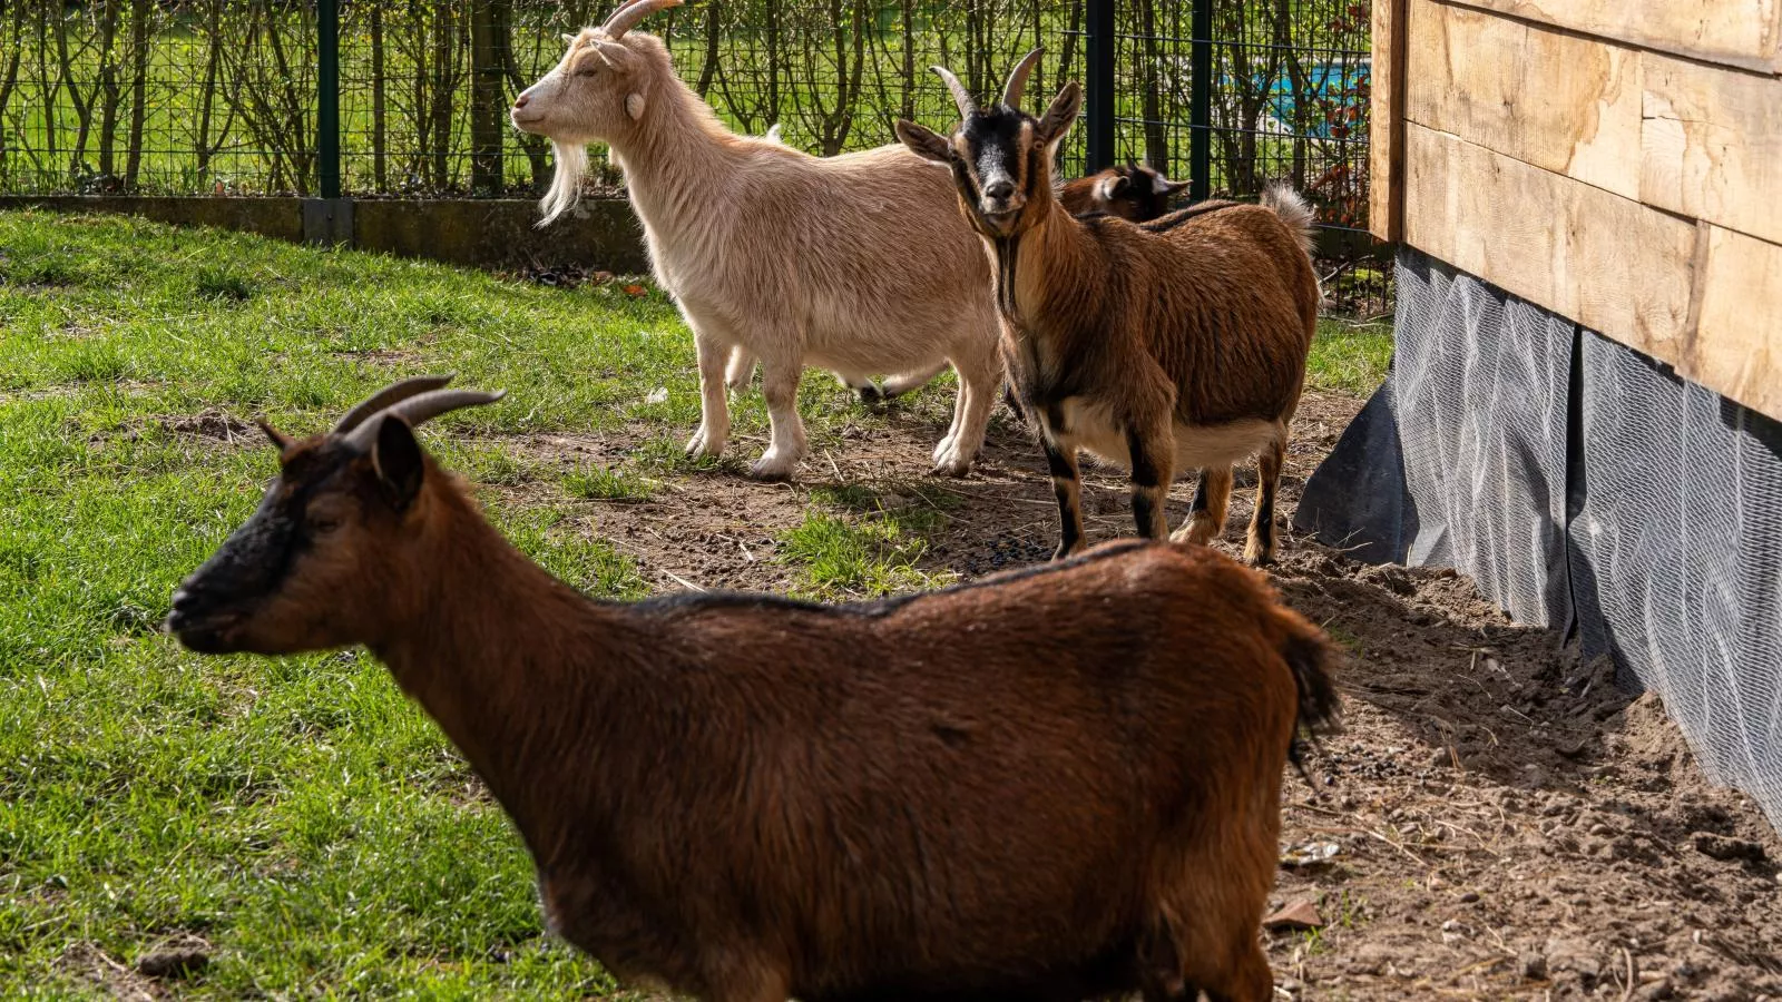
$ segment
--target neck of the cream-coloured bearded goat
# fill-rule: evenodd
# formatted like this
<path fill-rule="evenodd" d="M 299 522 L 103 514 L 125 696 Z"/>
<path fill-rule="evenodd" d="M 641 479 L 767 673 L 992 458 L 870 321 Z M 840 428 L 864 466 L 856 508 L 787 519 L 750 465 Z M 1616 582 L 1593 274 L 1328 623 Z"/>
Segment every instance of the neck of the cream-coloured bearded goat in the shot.
<path fill-rule="evenodd" d="M 665 235 L 699 228 L 729 187 L 736 136 L 674 71 L 659 77 L 643 119 L 611 143 L 643 225 Z"/>

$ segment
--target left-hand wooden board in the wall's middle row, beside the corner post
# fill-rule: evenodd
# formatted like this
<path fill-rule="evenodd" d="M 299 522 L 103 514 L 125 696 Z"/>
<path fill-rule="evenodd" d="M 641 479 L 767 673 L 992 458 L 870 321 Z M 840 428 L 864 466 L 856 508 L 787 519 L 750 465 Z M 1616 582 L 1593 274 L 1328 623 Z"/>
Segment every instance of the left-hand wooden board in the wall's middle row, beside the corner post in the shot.
<path fill-rule="evenodd" d="M 1639 198 L 1639 52 L 1435 0 L 1406 48 L 1410 121 Z"/>

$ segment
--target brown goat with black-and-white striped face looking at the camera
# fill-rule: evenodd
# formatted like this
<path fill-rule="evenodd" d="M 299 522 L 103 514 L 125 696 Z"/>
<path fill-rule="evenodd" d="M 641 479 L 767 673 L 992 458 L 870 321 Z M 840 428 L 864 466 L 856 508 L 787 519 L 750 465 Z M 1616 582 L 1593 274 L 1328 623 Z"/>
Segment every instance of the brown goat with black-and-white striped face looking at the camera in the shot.
<path fill-rule="evenodd" d="M 1176 538 L 1224 530 L 1231 464 L 1258 455 L 1244 556 L 1274 558 L 1274 492 L 1287 428 L 1317 332 L 1312 212 L 1290 189 L 1263 205 L 1203 201 L 1133 226 L 1071 216 L 1051 160 L 1082 89 L 1066 84 L 1039 119 L 1019 111 L 1041 50 L 980 109 L 946 68 L 960 125 L 939 136 L 900 119 L 898 137 L 952 171 L 959 207 L 994 264 L 1003 360 L 1039 423 L 1062 522 L 1057 556 L 1083 546 L 1080 449 L 1132 471 L 1139 533 L 1162 538 L 1178 469 L 1199 469 Z"/>

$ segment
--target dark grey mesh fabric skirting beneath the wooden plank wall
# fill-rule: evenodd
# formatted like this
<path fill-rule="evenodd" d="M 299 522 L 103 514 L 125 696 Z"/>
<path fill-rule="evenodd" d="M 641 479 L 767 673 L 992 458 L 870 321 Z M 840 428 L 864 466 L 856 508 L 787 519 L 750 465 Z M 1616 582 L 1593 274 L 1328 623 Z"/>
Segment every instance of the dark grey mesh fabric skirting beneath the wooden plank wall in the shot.
<path fill-rule="evenodd" d="M 1418 251 L 1397 289 L 1392 374 L 1296 526 L 1575 628 L 1782 822 L 1782 424 Z"/>

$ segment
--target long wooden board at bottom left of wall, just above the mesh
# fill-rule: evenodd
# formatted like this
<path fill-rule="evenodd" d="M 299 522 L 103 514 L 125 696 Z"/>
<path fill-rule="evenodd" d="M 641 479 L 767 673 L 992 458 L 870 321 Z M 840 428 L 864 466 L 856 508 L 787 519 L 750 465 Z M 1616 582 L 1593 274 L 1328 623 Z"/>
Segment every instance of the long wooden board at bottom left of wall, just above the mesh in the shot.
<path fill-rule="evenodd" d="M 1404 150 L 1406 242 L 1663 362 L 1682 358 L 1693 223 L 1422 125 L 1406 125 Z"/>

